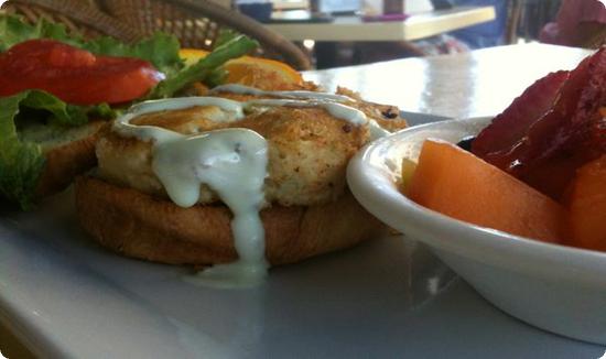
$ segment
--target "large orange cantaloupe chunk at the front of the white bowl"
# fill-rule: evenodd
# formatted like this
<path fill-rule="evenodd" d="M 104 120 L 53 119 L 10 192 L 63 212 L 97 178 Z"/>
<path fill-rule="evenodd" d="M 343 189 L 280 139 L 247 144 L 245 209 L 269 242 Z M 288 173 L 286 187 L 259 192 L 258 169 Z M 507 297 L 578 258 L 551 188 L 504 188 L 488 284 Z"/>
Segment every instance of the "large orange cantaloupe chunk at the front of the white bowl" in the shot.
<path fill-rule="evenodd" d="M 456 219 L 561 242 L 560 204 L 455 144 L 426 140 L 407 195 Z"/>

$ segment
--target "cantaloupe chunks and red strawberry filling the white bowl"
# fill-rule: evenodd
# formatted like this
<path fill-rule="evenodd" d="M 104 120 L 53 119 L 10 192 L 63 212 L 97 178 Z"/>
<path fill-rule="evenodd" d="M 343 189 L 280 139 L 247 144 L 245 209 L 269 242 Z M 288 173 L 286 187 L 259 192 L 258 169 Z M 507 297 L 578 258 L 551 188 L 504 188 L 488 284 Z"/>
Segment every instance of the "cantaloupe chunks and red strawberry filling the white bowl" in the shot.
<path fill-rule="evenodd" d="M 469 150 L 426 140 L 405 194 L 478 226 L 606 251 L 606 47 L 537 80 Z"/>

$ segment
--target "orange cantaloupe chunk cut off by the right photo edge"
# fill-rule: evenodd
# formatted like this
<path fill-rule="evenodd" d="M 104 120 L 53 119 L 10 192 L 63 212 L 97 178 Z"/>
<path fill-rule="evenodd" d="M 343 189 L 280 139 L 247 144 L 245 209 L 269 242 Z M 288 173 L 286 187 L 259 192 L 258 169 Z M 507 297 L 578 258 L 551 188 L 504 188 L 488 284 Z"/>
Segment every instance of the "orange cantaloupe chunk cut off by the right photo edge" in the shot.
<path fill-rule="evenodd" d="M 606 154 L 576 171 L 569 196 L 570 244 L 606 251 Z"/>

